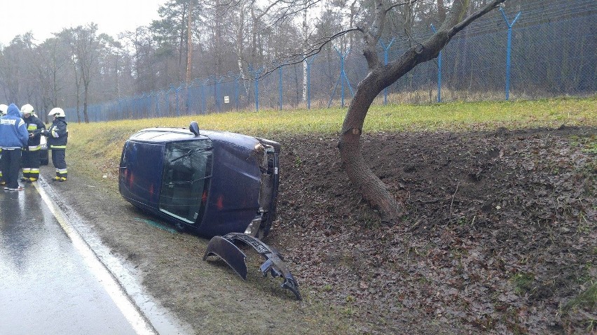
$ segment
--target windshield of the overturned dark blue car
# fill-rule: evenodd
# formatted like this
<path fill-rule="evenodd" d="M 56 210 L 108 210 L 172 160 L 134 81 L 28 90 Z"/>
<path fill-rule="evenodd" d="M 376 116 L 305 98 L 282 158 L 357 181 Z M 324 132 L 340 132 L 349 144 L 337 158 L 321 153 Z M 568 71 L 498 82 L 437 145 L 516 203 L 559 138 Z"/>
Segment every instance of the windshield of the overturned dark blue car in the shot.
<path fill-rule="evenodd" d="M 212 176 L 209 139 L 167 143 L 160 210 L 195 223 L 203 216 Z"/>

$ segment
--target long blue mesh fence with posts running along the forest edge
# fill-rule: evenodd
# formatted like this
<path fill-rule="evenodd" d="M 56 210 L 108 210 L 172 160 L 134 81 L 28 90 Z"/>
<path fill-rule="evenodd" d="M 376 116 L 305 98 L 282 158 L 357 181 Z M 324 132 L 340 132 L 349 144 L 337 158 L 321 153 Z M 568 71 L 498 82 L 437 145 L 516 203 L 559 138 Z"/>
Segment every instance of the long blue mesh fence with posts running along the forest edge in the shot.
<path fill-rule="evenodd" d="M 597 92 L 597 5 L 592 0 L 565 1 L 560 7 L 493 12 L 474 22 L 441 51 L 380 93 L 376 104 L 537 99 Z M 547 15 L 549 14 L 549 15 Z M 431 36 L 434 27 L 411 36 Z M 412 41 L 380 42 L 389 62 Z M 353 50 L 329 48 L 303 64 L 281 66 L 263 76 L 251 69 L 198 78 L 136 97 L 89 106 L 91 121 L 174 117 L 226 111 L 345 107 L 367 73 L 364 57 Z M 67 108 L 76 120 L 75 108 Z"/>

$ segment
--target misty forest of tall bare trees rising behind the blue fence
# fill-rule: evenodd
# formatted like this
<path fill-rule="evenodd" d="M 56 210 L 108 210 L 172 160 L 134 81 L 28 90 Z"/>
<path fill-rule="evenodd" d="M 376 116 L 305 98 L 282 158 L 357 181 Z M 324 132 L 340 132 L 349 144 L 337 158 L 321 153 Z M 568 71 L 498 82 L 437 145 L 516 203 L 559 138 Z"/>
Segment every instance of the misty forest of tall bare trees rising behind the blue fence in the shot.
<path fill-rule="evenodd" d="M 487 2 L 472 0 L 469 11 Z M 399 36 L 390 56 L 428 34 L 430 25 L 437 26 L 450 5 L 449 0 L 412 1 L 390 11 L 385 41 Z M 337 50 L 352 50 L 352 55 L 358 55 L 362 41 L 351 29 L 370 22 L 372 9 L 371 1 L 359 0 L 170 0 L 158 8 L 160 20 L 118 36 L 99 34 L 93 22 L 64 27 L 41 42 L 32 34 L 15 36 L 11 43 L 0 46 L 0 98 L 33 104 L 37 111 L 54 106 L 87 110 L 90 104 L 163 90 L 195 78 L 224 78 L 235 73 L 249 99 L 252 84 L 248 80 L 254 78 L 256 69 L 268 73 L 280 64 L 296 64 L 294 72 L 299 72 L 297 66 L 305 67 L 301 61 L 316 53 L 319 59 L 334 58 L 334 62 Z M 594 14 L 596 10 L 594 3 L 586 0 L 567 4 L 509 0 L 504 9 L 514 14 L 524 10 L 531 19 L 528 22 L 535 24 Z M 466 34 L 481 34 L 483 29 L 505 25 L 499 20 L 502 18 L 493 17 L 484 28 L 472 26 Z M 505 34 L 505 27 L 500 30 Z M 594 44 L 588 37 L 579 43 Z M 540 51 L 553 55 L 549 50 Z M 571 63 L 568 66 L 576 64 Z M 355 67 L 355 73 L 366 69 L 358 64 Z M 305 99 L 306 86 L 301 83 L 304 73 L 294 76 L 296 87 L 302 87 L 296 89 L 296 100 L 298 96 Z"/>

